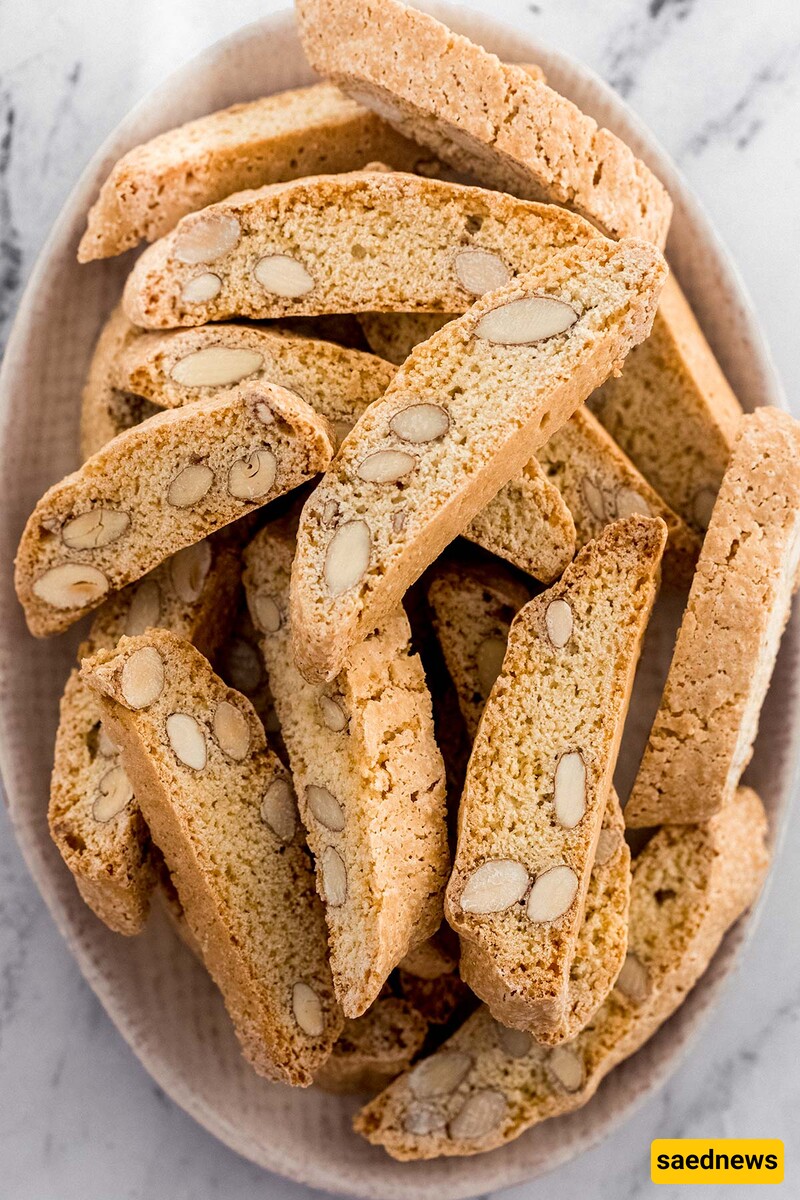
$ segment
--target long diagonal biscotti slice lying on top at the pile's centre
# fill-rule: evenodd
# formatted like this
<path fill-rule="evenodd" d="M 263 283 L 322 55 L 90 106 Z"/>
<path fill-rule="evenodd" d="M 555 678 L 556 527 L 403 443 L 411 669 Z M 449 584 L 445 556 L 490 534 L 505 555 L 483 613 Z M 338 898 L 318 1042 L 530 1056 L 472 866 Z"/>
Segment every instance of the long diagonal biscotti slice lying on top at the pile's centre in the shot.
<path fill-rule="evenodd" d="M 350 648 L 631 346 L 666 266 L 646 242 L 553 252 L 417 347 L 307 502 L 291 577 L 294 649 L 332 679 Z"/>

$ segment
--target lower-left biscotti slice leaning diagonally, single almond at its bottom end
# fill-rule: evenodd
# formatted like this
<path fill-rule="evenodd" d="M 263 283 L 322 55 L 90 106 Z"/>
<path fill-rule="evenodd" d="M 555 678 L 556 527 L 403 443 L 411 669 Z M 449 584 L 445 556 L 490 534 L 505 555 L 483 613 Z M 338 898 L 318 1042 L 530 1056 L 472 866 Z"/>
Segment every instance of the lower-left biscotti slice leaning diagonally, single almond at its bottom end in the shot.
<path fill-rule="evenodd" d="M 82 667 L 259 1074 L 307 1086 L 342 1028 L 291 781 L 252 706 L 166 630 Z"/>

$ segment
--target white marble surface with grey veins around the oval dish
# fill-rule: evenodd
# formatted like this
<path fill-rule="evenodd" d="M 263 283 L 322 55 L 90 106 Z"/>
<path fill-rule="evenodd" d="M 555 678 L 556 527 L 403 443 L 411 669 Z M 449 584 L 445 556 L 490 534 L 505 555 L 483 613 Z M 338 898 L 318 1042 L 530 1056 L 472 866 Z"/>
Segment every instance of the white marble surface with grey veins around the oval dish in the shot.
<path fill-rule="evenodd" d="M 0 340 L 61 203 L 149 88 L 270 0 L 0 0 Z M 796 0 L 474 0 L 582 58 L 684 168 L 734 252 L 800 410 Z M 1 343 L 0 343 L 1 344 Z M 652 1136 L 780 1136 L 800 1195 L 800 934 L 790 823 L 759 935 L 688 1061 L 624 1128 L 525 1200 L 642 1200 Z M 300 1200 L 164 1098 L 62 944 L 0 816 L 0 1194 Z M 686 1189 L 662 1189 L 663 1200 Z M 704 1200 L 746 1189 L 709 1187 Z"/>

